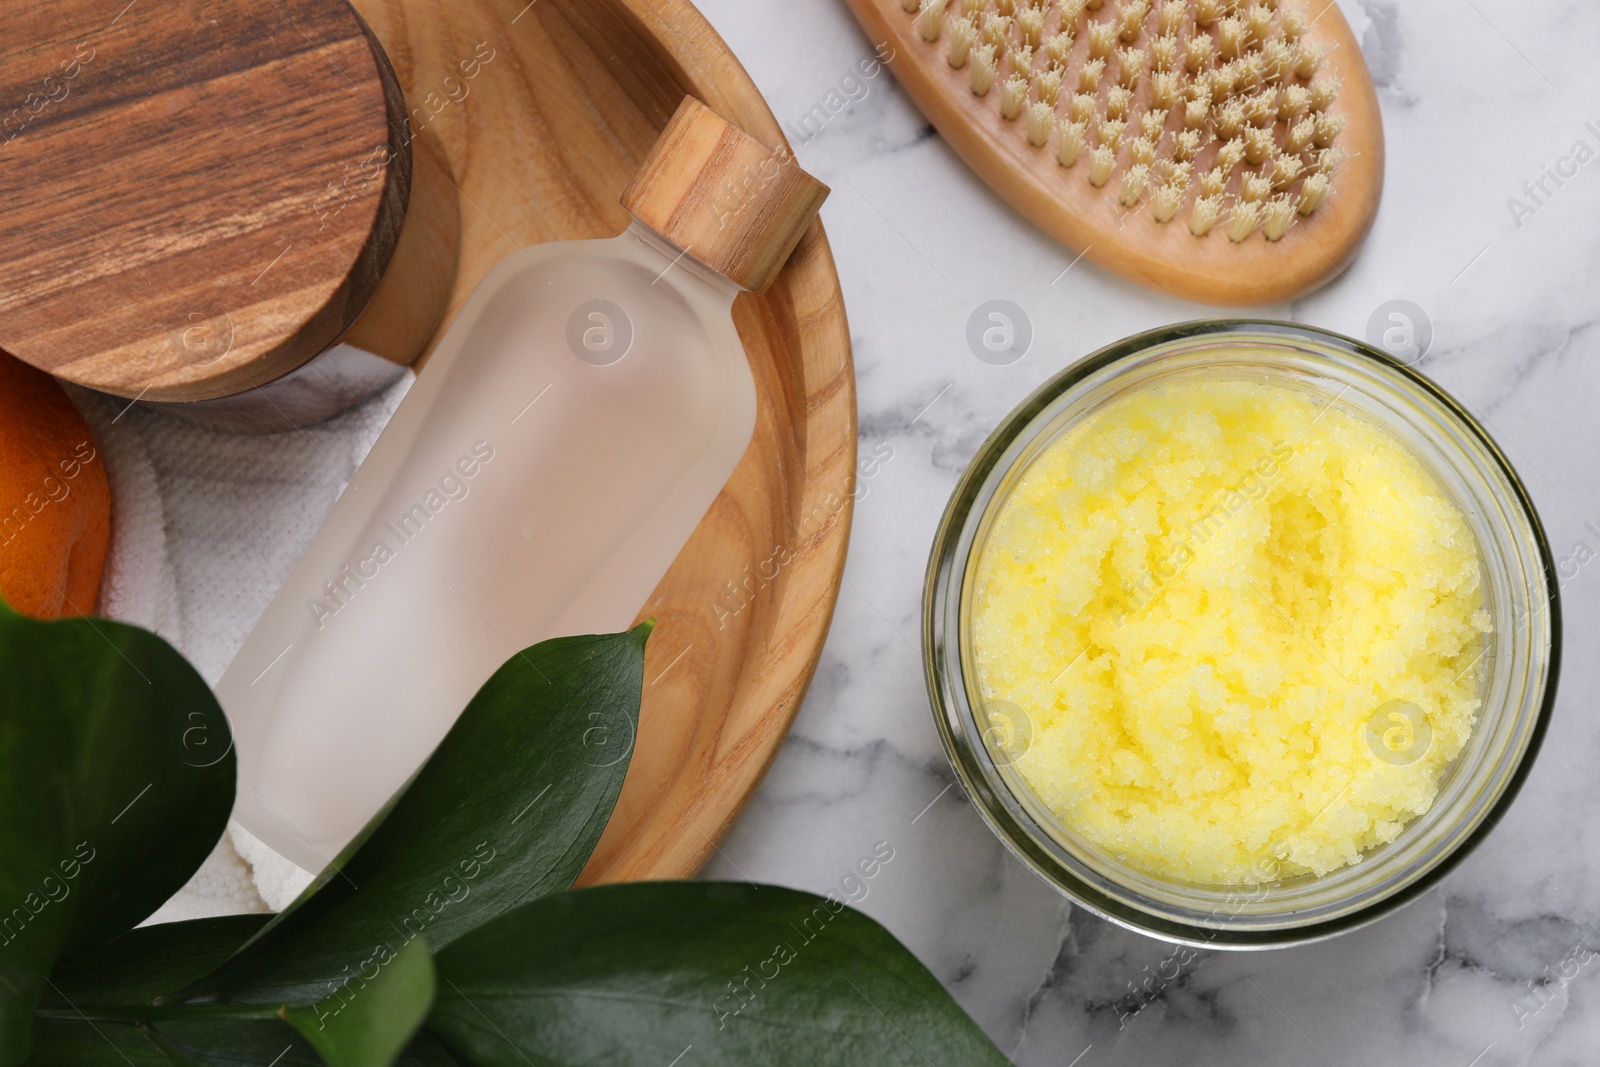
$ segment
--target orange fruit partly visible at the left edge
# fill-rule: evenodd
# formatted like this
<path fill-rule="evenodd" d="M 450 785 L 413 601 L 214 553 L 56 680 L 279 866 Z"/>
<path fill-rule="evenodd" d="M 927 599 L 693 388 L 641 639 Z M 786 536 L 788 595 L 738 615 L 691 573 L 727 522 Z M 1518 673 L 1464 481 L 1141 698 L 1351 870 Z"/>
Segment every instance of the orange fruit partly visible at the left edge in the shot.
<path fill-rule="evenodd" d="M 110 549 L 110 483 L 56 379 L 0 352 L 0 597 L 22 614 L 91 614 Z"/>

